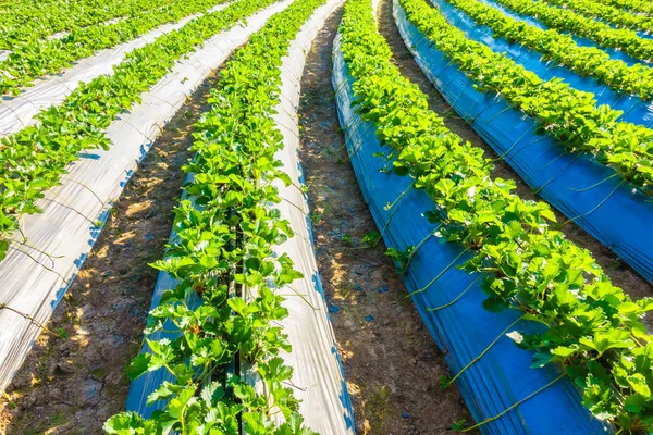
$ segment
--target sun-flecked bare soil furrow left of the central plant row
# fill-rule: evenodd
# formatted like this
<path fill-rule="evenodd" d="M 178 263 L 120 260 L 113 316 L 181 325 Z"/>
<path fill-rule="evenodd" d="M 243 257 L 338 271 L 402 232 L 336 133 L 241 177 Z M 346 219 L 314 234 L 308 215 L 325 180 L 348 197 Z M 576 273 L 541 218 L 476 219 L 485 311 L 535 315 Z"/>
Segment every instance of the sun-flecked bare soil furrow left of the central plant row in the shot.
<path fill-rule="evenodd" d="M 165 126 L 47 327 L 0 399 L 0 434 L 101 434 L 124 409 L 125 368 L 140 349 L 158 271 L 190 157 L 190 133 L 217 73 Z"/>

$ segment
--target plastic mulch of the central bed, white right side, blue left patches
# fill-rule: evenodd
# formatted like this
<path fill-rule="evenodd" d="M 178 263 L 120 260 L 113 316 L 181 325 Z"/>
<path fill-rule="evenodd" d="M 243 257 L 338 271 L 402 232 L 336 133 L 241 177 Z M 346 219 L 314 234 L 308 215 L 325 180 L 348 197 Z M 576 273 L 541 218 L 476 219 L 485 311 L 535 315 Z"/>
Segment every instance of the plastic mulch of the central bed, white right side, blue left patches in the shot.
<path fill-rule="evenodd" d="M 326 17 L 343 0 L 331 0 L 318 8 L 311 18 L 301 27 L 292 42 L 288 55 L 283 59 L 282 84 L 275 122 L 283 135 L 285 147 L 276 158 L 283 163 L 282 170 L 288 174 L 293 184 L 285 186 L 281 182 L 274 185 L 279 189 L 282 201 L 274 204 L 281 210 L 295 233 L 294 237 L 275 247 L 275 253 L 286 253 L 293 260 L 295 269 L 304 278 L 293 282 L 292 288 L 286 286 L 278 291 L 286 298 L 283 306 L 288 309 L 288 318 L 280 325 L 288 335 L 293 346 L 291 353 L 282 352 L 281 357 L 293 368 L 292 384 L 296 386 L 294 394 L 299 399 L 299 412 L 307 427 L 322 435 L 354 434 L 352 403 L 347 393 L 343 369 L 337 353 L 333 330 L 329 321 L 326 302 L 322 291 L 320 276 L 315 258 L 312 235 L 310 233 L 309 209 L 306 197 L 300 189 L 303 184 L 301 167 L 298 162 L 299 130 L 297 124 L 297 107 L 299 104 L 299 86 L 306 54 Z M 174 237 L 172 235 L 171 237 Z M 156 298 L 151 308 L 159 303 L 161 294 L 175 285 L 167 273 L 160 273 L 155 290 Z M 195 298 L 192 303 L 197 304 Z M 158 338 L 159 336 L 150 337 Z M 251 373 L 244 366 L 241 373 L 248 382 L 256 382 Z M 163 380 L 169 380 L 164 370 L 146 373 L 132 383 L 127 399 L 127 409 L 150 415 L 157 409 L 146 405 L 147 396 Z M 257 388 L 262 389 L 262 383 Z M 163 406 L 158 402 L 158 407 Z M 276 414 L 279 423 L 283 417 Z"/>

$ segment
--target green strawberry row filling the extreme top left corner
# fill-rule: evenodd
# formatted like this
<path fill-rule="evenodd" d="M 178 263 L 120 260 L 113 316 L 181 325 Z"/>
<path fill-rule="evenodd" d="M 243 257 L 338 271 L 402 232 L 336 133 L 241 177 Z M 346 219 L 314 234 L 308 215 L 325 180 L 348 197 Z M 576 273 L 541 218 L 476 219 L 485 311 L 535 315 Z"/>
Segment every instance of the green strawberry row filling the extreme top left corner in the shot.
<path fill-rule="evenodd" d="M 132 16 L 163 4 L 161 0 L 14 2 L 0 8 L 0 49 L 11 50 L 21 41 Z"/>

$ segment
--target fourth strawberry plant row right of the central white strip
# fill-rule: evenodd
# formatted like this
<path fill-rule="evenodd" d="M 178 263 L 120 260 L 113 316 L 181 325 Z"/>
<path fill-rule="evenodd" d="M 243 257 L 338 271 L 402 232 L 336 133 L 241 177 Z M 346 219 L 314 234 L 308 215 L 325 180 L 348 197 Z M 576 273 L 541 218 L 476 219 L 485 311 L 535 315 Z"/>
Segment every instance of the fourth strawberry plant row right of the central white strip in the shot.
<path fill-rule="evenodd" d="M 571 32 L 593 40 L 600 47 L 615 48 L 633 58 L 653 61 L 653 40 L 640 38 L 633 30 L 613 28 L 575 12 L 550 7 L 541 0 L 494 0 L 518 14 L 537 17 L 551 28 Z"/>

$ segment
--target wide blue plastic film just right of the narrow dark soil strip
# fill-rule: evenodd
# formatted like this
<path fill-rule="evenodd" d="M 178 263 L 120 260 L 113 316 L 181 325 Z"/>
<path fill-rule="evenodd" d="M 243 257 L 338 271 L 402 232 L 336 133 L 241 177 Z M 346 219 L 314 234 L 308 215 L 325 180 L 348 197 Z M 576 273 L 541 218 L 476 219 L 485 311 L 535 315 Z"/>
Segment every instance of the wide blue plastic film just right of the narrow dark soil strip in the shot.
<path fill-rule="evenodd" d="M 653 202 L 613 169 L 586 154 L 571 154 L 549 136 L 537 135 L 537 121 L 473 82 L 406 17 L 395 0 L 395 21 L 420 69 L 460 116 L 538 194 L 580 227 L 653 281 Z"/>

